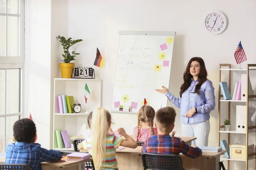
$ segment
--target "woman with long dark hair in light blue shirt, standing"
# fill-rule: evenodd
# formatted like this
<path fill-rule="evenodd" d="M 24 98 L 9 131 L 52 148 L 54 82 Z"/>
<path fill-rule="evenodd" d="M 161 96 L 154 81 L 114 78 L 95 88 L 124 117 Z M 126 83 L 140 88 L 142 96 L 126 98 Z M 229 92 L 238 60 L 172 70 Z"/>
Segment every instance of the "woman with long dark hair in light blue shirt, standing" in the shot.
<path fill-rule="evenodd" d="M 156 91 L 166 94 L 170 102 L 180 108 L 182 136 L 196 137 L 192 144 L 198 147 L 208 146 L 210 111 L 215 108 L 215 96 L 214 87 L 207 79 L 207 70 L 201 57 L 189 60 L 183 80 L 178 98 L 164 86 Z"/>

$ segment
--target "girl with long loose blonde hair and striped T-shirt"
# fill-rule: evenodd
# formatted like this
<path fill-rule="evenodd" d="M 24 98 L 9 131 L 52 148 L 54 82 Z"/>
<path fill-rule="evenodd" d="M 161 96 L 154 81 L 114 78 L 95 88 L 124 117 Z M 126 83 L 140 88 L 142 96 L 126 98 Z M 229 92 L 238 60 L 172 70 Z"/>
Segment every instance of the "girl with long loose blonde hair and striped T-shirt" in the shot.
<path fill-rule="evenodd" d="M 125 137 L 122 140 L 117 136 L 108 133 L 111 125 L 111 114 L 104 108 L 97 108 L 93 111 L 90 136 L 79 144 L 79 149 L 87 149 L 93 157 L 96 170 L 114 169 L 118 170 L 116 161 L 116 148 L 136 148 L 136 142 L 125 133 L 123 128 L 117 132 Z"/>

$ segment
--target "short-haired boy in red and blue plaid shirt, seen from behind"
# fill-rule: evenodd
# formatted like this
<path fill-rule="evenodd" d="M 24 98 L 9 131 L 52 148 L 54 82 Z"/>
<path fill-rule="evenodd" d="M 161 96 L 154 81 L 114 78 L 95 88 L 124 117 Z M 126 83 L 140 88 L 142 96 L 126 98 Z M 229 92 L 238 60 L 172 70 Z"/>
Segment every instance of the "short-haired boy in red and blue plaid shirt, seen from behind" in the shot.
<path fill-rule="evenodd" d="M 175 110 L 171 107 L 161 108 L 155 115 L 155 127 L 158 135 L 148 137 L 141 151 L 142 153 L 177 154 L 191 158 L 198 158 L 202 155 L 202 150 L 197 146 L 189 146 L 180 138 L 172 137 L 169 134 L 174 128 Z"/>

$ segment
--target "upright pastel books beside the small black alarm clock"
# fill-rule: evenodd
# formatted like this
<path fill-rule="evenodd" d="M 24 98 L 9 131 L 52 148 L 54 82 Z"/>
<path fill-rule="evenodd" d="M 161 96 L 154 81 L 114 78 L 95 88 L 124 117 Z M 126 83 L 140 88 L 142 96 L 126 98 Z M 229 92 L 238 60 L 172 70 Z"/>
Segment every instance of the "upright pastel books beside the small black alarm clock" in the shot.
<path fill-rule="evenodd" d="M 58 105 L 60 113 L 74 113 L 73 105 L 75 100 L 73 96 L 61 95 L 58 96 Z"/>

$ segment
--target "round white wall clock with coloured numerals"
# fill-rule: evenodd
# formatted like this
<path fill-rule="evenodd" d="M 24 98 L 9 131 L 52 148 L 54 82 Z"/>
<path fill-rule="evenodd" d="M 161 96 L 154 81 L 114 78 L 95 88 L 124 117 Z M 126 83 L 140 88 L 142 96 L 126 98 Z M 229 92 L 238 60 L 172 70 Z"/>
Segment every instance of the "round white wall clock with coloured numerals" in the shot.
<path fill-rule="evenodd" d="M 212 34 L 221 34 L 227 26 L 227 20 L 222 12 L 213 11 L 205 18 L 204 25 Z"/>

